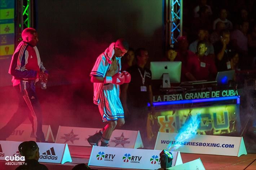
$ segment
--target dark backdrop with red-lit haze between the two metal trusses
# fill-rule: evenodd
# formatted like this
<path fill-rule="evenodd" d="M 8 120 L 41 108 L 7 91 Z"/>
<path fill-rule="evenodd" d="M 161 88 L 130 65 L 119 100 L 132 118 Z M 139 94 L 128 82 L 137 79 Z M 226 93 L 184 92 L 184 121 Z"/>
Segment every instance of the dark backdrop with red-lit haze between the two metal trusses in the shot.
<path fill-rule="evenodd" d="M 49 85 L 89 80 L 94 61 L 123 37 L 162 57 L 162 0 L 38 0 L 39 52 Z"/>

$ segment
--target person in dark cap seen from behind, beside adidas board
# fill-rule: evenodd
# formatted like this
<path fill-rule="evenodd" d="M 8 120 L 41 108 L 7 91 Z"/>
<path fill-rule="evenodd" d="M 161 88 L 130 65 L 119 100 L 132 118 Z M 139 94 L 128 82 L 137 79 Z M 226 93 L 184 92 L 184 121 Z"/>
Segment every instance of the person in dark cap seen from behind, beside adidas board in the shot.
<path fill-rule="evenodd" d="M 40 154 L 36 142 L 22 142 L 18 149 L 21 155 L 25 157 L 25 164 L 18 166 L 16 170 L 48 170 L 45 165 L 38 162 Z"/>

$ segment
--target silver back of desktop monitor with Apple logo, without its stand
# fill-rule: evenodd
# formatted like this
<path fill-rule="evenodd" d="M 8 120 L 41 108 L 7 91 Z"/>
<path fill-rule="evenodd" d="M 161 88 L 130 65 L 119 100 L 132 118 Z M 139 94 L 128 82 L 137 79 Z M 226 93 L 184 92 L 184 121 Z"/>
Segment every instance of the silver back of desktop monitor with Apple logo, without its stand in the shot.
<path fill-rule="evenodd" d="M 181 61 L 153 61 L 150 70 L 153 80 L 162 79 L 163 74 L 168 73 L 171 83 L 180 83 Z"/>

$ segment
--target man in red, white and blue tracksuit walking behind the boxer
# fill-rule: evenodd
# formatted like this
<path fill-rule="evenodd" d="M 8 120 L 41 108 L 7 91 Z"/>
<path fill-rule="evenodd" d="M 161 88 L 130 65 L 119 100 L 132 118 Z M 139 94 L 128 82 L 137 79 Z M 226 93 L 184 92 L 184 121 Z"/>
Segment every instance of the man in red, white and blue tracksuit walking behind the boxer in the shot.
<path fill-rule="evenodd" d="M 47 83 L 48 72 L 41 62 L 36 44 L 37 32 L 26 28 L 22 32 L 23 41 L 19 43 L 10 63 L 9 74 L 19 98 L 18 110 L 9 122 L 0 129 L 0 140 L 5 140 L 28 116 L 37 142 L 45 142 L 42 130 L 42 112 L 35 92 L 35 83 Z"/>

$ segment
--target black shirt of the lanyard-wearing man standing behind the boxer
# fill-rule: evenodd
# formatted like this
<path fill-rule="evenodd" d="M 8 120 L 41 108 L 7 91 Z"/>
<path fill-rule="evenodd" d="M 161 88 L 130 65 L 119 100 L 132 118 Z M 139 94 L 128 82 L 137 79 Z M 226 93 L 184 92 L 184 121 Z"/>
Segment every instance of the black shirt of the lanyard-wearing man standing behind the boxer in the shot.
<path fill-rule="evenodd" d="M 145 74 L 145 83 L 142 84 L 142 77 Z M 127 89 L 128 107 L 146 107 L 149 100 L 149 86 L 151 85 L 151 71 L 147 68 L 140 68 L 138 65 L 131 66 L 127 72 L 131 74 L 131 82 Z M 141 86 L 146 86 L 146 91 L 141 91 Z"/>

